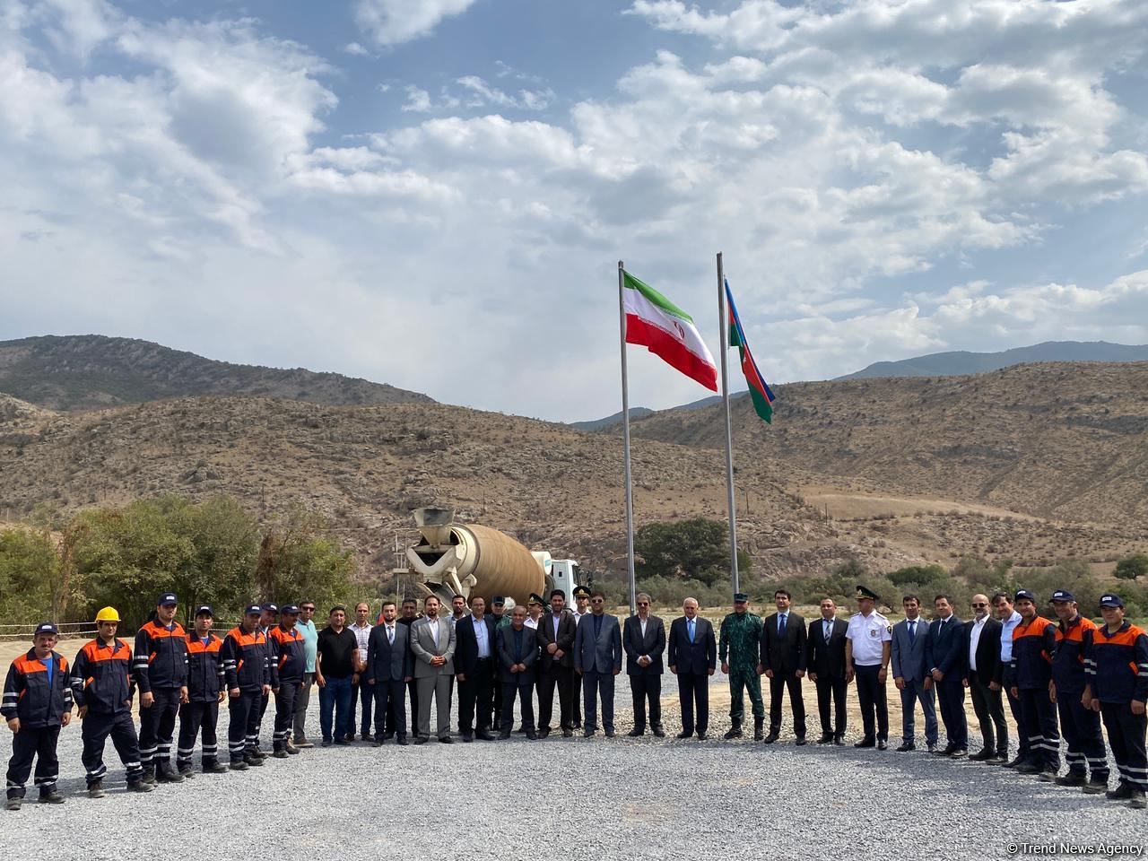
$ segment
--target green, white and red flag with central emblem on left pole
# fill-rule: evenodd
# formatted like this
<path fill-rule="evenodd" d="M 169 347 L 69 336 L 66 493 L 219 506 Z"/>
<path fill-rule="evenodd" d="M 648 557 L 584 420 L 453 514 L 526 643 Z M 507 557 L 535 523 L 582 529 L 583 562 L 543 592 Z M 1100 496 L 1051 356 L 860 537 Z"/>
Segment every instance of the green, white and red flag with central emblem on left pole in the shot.
<path fill-rule="evenodd" d="M 629 272 L 622 276 L 626 343 L 645 347 L 687 377 L 716 391 L 718 366 L 693 318 Z"/>

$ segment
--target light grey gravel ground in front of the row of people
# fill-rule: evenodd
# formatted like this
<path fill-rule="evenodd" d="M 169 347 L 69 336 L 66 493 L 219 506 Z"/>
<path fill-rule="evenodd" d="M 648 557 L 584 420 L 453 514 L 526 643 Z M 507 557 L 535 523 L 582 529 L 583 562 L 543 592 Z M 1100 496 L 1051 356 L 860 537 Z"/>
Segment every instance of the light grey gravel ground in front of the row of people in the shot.
<path fill-rule="evenodd" d="M 715 676 L 714 684 L 724 685 L 724 678 Z M 629 703 L 625 675 L 616 701 Z M 673 736 L 681 723 L 676 703 L 666 705 Z M 317 699 L 308 716 L 316 738 Z M 223 731 L 226 720 L 224 712 Z M 614 739 L 552 735 L 538 742 L 517 736 L 449 746 L 316 747 L 288 760 L 269 758 L 264 768 L 246 773 L 196 775 L 146 796 L 124 791 L 109 744 L 111 791 L 102 800 L 84 796 L 79 730 L 71 727 L 60 744 L 68 802 L 0 810 L 0 847 L 5 858 L 85 861 L 144 852 L 156 859 L 196 852 L 220 860 L 253 853 L 308 858 L 332 850 L 470 861 L 542 851 L 603 861 L 840 856 L 844 841 L 851 859 L 1001 858 L 1010 840 L 1141 850 L 1148 843 L 1142 812 L 999 767 L 924 753 L 796 747 L 784 739 L 768 747 L 724 742 L 726 714 L 712 716 L 707 742 L 626 738 L 633 726 L 628 707 L 619 708 L 615 723 Z M 554 841 L 558 848 L 541 846 Z"/>

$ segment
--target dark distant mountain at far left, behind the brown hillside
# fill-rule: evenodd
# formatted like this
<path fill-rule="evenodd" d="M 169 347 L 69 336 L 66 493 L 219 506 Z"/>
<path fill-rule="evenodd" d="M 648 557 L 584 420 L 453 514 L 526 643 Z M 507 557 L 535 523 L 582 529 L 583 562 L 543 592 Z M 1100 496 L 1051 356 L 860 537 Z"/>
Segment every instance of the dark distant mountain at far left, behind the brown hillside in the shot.
<path fill-rule="evenodd" d="M 0 391 L 49 410 L 92 410 L 195 395 L 258 395 L 364 406 L 430 402 L 426 395 L 341 374 L 233 365 L 149 341 L 103 335 L 0 341 Z"/>

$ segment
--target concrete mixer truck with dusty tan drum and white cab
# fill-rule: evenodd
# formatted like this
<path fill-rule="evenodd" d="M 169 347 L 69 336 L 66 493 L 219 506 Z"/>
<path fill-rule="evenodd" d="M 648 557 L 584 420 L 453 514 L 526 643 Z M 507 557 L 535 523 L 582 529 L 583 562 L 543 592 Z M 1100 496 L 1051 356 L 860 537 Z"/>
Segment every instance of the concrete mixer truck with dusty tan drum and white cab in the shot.
<path fill-rule="evenodd" d="M 408 567 L 395 573 L 421 596 L 435 595 L 447 605 L 455 595 L 467 600 L 481 595 L 488 606 L 495 595 L 526 604 L 530 592 L 548 597 L 551 589 L 561 589 L 573 604 L 574 587 L 589 585 L 575 560 L 530 552 L 489 526 L 456 523 L 453 509 L 416 509 L 414 525 L 421 538 L 406 548 Z"/>

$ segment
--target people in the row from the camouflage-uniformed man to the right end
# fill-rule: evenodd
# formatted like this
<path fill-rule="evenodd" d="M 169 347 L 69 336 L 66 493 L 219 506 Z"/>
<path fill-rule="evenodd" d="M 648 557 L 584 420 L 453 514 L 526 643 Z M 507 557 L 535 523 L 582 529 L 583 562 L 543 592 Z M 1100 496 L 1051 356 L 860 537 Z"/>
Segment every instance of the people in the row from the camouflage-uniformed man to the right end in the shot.
<path fill-rule="evenodd" d="M 748 612 L 746 595 L 734 597 L 719 652 L 729 673 L 732 726 L 727 738 L 743 732 L 743 691 L 753 706 L 754 737 L 775 743 L 781 732 L 782 703 L 789 691 L 797 744 L 806 744 L 801 680 L 809 675 L 817 690 L 819 744 L 844 744 L 847 685 L 855 681 L 863 735 L 855 747 L 889 748 L 885 684 L 892 673 L 902 707 L 900 753 L 916 750 L 915 715 L 924 715 L 930 753 L 1013 768 L 1019 774 L 1087 793 L 1106 793 L 1145 808 L 1148 758 L 1148 635 L 1125 621 L 1118 595 L 1100 598 L 1103 625 L 1080 614 L 1072 594 L 1057 590 L 1049 604 L 1056 622 L 1040 615 L 1035 595 L 975 595 L 972 618 L 956 616 L 953 599 L 938 595 L 934 615 L 921 615 L 921 599 L 902 599 L 905 619 L 897 625 L 876 612 L 877 596 L 858 587 L 858 612 L 837 618 L 831 598 L 821 602 L 821 619 L 808 627 L 790 610 L 790 594 L 774 594 L 777 612 L 761 619 Z M 993 615 L 995 613 L 995 618 Z M 769 731 L 760 676 L 769 678 Z M 969 754 L 965 691 L 980 724 L 982 748 Z M 1018 752 L 1008 758 L 1003 700 L 1017 726 Z M 832 705 L 832 714 L 831 714 Z M 940 746 L 940 723 L 946 744 Z M 1118 781 L 1109 790 L 1108 755 L 1101 721 L 1116 761 Z M 1066 745 L 1066 774 L 1060 774 L 1061 734 Z"/>

